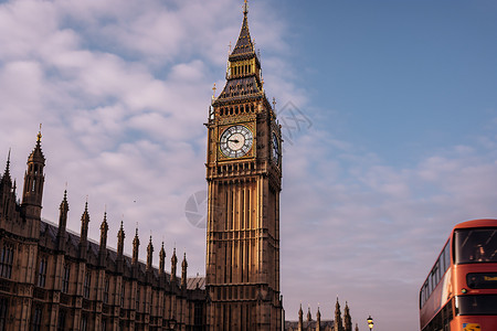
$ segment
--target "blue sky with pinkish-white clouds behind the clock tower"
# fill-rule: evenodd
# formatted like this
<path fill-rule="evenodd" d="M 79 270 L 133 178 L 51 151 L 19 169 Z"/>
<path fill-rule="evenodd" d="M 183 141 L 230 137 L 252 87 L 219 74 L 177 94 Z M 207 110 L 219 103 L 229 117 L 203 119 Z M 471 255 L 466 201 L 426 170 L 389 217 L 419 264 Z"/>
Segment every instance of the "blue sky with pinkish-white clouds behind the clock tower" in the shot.
<path fill-rule="evenodd" d="M 21 182 L 43 122 L 43 217 L 57 220 L 67 183 L 73 231 L 88 195 L 91 237 L 106 207 L 125 253 L 138 224 L 142 243 L 152 234 L 204 273 L 204 229 L 184 205 L 205 189 L 203 122 L 239 2 L 0 1 L 0 153 L 12 148 Z M 292 135 L 287 317 L 302 302 L 331 319 L 338 296 L 360 330 L 369 314 L 419 330 L 417 291 L 452 226 L 497 217 L 497 4 L 253 0 L 248 17 Z"/>

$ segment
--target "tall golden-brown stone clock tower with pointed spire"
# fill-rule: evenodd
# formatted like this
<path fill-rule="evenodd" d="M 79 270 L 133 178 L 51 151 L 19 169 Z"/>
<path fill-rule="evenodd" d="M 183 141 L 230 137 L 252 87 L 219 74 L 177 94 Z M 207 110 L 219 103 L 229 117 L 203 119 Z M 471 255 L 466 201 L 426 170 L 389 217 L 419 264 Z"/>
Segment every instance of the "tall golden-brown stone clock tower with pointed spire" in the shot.
<path fill-rule="evenodd" d="M 282 134 L 263 88 L 247 4 L 208 122 L 209 330 L 282 330 Z"/>

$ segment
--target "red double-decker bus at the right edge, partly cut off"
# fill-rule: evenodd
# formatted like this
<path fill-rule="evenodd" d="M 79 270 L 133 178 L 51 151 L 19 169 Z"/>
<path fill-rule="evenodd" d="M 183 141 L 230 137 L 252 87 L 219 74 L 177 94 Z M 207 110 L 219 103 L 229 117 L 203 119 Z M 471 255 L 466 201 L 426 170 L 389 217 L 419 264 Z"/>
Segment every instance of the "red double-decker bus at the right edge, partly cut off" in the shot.
<path fill-rule="evenodd" d="M 497 331 L 497 220 L 457 224 L 420 290 L 422 331 Z"/>

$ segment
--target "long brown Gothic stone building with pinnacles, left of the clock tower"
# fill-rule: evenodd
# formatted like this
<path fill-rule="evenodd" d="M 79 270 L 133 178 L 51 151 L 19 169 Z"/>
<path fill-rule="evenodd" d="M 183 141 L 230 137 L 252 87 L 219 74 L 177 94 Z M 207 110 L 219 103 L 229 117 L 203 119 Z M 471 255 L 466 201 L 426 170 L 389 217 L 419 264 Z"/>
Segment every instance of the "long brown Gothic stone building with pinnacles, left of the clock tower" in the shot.
<path fill-rule="evenodd" d="M 21 203 L 10 156 L 0 179 L 0 331 L 204 330 L 204 279 L 187 278 L 186 255 L 180 277 L 176 252 L 171 273 L 166 273 L 162 243 L 159 268 L 154 268 L 150 237 L 147 263 L 140 263 L 136 229 L 133 256 L 125 256 L 123 223 L 117 252 L 107 248 L 106 214 L 99 222 L 99 243 L 89 241 L 87 203 L 81 233 L 68 232 L 67 192 L 59 224 L 41 220 L 44 167 L 39 134 L 28 158 Z"/>

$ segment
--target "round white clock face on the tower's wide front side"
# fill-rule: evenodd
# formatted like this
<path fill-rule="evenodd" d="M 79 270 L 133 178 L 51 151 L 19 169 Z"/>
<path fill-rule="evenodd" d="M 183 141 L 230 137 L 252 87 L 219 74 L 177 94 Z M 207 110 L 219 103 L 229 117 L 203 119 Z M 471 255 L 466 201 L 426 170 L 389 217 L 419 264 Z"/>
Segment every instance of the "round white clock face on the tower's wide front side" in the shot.
<path fill-rule="evenodd" d="M 247 127 L 232 126 L 222 134 L 220 149 L 226 158 L 241 158 L 251 150 L 253 140 Z"/>

